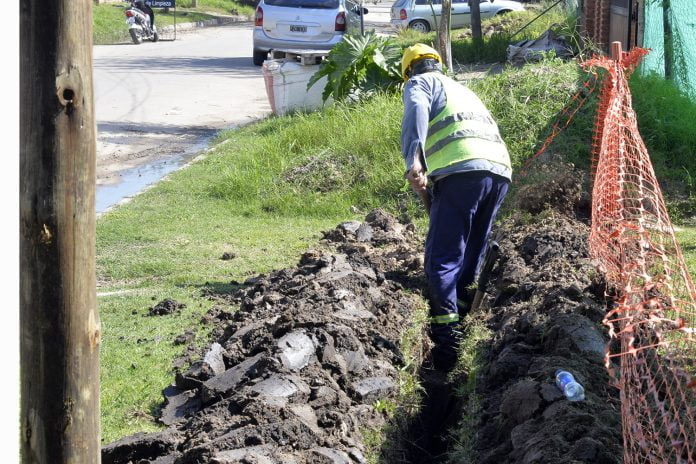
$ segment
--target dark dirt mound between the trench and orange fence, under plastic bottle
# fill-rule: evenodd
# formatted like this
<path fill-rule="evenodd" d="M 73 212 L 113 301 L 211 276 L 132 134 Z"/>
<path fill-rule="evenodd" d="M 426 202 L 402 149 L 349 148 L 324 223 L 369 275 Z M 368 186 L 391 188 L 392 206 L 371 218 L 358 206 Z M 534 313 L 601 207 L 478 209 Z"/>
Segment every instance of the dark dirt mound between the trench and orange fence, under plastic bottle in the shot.
<path fill-rule="evenodd" d="M 618 391 L 604 366 L 605 285 L 587 248 L 589 203 L 581 172 L 555 172 L 520 190 L 517 213 L 496 233 L 502 257 L 478 316 L 495 334 L 476 386 L 481 464 L 622 462 Z M 557 369 L 584 386 L 584 401 L 563 396 Z"/>

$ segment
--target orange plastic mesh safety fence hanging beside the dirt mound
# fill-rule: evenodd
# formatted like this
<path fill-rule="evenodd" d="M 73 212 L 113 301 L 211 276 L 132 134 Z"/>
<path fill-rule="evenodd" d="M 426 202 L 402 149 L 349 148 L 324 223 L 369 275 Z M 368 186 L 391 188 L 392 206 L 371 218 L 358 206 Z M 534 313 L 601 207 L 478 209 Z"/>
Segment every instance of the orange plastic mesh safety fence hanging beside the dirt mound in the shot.
<path fill-rule="evenodd" d="M 696 291 L 626 80 L 646 53 L 583 63 L 608 71 L 593 141 L 589 246 L 615 302 L 604 320 L 612 337 L 605 360 L 620 390 L 624 462 L 693 463 Z"/>

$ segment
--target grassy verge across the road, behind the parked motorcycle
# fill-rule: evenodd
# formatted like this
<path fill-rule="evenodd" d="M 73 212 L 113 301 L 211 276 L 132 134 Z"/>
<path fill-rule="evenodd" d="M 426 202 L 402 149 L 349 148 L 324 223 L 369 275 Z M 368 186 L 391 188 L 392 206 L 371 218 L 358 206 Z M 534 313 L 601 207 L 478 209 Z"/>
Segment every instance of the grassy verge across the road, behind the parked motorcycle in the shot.
<path fill-rule="evenodd" d="M 191 0 L 177 2 L 177 9 L 156 8 L 155 24 L 163 27 L 177 24 L 205 21 L 218 15 L 245 15 L 251 17 L 254 9 L 232 0 L 199 0 L 197 7 L 191 7 Z M 95 45 L 129 42 L 125 9 L 128 2 L 106 3 L 92 6 L 92 39 Z"/>

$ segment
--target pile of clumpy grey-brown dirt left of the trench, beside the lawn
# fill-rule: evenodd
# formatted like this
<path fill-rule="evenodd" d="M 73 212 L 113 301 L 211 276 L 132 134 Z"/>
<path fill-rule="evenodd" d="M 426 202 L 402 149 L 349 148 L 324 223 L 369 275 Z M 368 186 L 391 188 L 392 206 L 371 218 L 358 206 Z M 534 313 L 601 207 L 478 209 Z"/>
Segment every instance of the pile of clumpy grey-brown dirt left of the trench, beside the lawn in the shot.
<path fill-rule="evenodd" d="M 217 295 L 215 343 L 164 392 L 168 428 L 105 446 L 102 462 L 367 462 L 361 428 L 385 424 L 373 405 L 398 392 L 421 239 L 376 210 L 325 242 L 333 251 Z"/>

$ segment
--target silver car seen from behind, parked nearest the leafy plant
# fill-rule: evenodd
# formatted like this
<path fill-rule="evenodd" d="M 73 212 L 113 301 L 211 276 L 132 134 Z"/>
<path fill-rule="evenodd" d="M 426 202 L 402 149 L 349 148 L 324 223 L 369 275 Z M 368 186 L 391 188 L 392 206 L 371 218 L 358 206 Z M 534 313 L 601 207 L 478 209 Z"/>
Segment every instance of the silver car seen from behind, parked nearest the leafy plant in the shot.
<path fill-rule="evenodd" d="M 254 27 L 254 64 L 271 50 L 331 50 L 346 33 L 360 32 L 367 8 L 353 0 L 260 0 Z"/>

